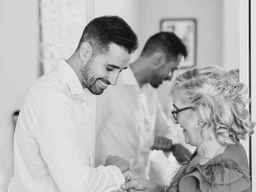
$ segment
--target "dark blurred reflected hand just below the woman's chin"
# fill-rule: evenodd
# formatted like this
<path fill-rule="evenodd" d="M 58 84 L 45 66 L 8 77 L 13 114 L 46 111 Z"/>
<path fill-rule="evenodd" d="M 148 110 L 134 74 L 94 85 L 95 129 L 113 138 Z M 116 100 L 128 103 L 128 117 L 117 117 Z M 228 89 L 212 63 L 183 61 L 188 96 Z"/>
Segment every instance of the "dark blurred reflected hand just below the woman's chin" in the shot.
<path fill-rule="evenodd" d="M 176 144 L 172 147 L 172 154 L 178 162 L 186 162 L 192 153 L 182 144 Z"/>

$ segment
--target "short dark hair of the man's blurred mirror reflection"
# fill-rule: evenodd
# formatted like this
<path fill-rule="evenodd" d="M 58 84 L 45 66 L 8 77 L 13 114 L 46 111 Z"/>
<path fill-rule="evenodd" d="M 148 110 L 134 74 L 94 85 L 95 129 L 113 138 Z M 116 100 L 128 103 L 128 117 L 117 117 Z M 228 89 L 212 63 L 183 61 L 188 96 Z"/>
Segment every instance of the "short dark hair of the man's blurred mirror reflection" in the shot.
<path fill-rule="evenodd" d="M 177 59 L 178 54 L 182 54 L 185 58 L 188 55 L 186 46 L 173 32 L 160 32 L 151 36 L 146 42 L 141 56 L 150 56 L 155 52 L 164 53 L 167 61 Z"/>

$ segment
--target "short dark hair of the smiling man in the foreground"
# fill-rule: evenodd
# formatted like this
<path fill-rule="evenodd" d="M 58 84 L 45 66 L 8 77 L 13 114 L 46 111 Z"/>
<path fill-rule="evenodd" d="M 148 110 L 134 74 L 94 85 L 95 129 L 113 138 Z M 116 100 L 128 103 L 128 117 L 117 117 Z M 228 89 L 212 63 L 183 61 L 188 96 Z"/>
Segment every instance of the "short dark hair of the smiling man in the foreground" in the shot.
<path fill-rule="evenodd" d="M 83 42 L 92 46 L 93 55 L 106 54 L 110 44 L 116 44 L 129 54 L 138 48 L 138 37 L 132 28 L 119 16 L 100 16 L 94 18 L 84 28 L 76 51 Z"/>

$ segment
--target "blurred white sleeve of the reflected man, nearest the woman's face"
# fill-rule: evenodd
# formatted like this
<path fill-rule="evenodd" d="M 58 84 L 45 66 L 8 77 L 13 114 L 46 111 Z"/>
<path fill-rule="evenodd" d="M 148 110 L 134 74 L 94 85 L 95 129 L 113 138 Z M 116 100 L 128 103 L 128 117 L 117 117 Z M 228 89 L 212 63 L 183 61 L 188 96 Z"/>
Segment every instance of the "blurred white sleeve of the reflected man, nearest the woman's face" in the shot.
<path fill-rule="evenodd" d="M 177 143 L 176 132 L 171 126 L 170 119 L 167 118 L 163 111 L 163 106 L 156 95 L 156 126 L 155 136 L 162 136 L 171 139 L 174 143 Z"/>

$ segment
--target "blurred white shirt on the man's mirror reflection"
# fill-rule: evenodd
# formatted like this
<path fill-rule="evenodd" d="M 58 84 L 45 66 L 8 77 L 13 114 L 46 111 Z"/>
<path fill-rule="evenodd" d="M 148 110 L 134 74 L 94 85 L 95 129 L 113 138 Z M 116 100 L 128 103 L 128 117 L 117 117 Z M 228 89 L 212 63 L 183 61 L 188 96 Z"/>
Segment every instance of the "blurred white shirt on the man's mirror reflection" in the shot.
<path fill-rule="evenodd" d="M 96 166 L 109 154 L 130 161 L 147 176 L 146 165 L 155 136 L 174 140 L 175 132 L 150 84 L 140 88 L 132 70 L 123 70 L 115 86 L 97 97 Z"/>

